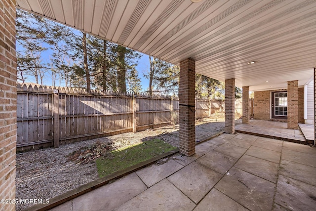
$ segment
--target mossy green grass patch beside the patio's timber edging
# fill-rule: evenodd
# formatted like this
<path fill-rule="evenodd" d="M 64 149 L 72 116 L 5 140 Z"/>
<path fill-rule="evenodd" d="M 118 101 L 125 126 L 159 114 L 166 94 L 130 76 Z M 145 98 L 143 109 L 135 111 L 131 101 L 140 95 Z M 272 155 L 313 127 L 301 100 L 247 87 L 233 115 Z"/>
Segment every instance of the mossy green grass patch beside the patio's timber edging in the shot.
<path fill-rule="evenodd" d="M 96 160 L 99 178 L 175 149 L 177 148 L 164 141 L 154 139 L 114 150 L 111 152 L 112 156 L 110 157 L 112 158 L 99 158 Z"/>

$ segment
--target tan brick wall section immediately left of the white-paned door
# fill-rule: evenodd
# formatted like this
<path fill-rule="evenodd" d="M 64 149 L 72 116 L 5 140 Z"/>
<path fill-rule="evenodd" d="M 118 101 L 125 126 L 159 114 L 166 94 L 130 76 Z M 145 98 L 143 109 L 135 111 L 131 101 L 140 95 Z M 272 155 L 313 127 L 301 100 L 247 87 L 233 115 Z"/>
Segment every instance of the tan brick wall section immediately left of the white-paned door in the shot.
<path fill-rule="evenodd" d="M 255 91 L 253 93 L 253 119 L 270 120 L 270 91 Z"/>

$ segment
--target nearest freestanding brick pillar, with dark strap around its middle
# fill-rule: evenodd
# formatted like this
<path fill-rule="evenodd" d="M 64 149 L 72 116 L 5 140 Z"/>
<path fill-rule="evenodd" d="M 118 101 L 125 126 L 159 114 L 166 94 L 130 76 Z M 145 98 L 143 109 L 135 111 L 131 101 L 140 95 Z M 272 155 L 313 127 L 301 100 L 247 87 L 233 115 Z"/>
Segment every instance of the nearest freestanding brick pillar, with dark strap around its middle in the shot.
<path fill-rule="evenodd" d="M 195 74 L 196 62 L 194 60 L 188 58 L 180 62 L 179 148 L 180 152 L 186 156 L 193 155 L 196 147 Z"/>

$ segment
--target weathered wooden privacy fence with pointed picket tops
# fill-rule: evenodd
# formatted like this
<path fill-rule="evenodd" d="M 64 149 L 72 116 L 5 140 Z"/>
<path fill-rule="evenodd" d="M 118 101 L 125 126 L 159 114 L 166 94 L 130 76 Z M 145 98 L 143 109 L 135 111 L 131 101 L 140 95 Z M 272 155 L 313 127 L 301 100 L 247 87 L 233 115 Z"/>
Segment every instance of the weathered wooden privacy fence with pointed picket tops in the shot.
<path fill-rule="evenodd" d="M 196 118 L 223 101 L 196 100 Z M 17 85 L 17 149 L 66 143 L 170 125 L 179 99 L 167 95 L 101 93 L 85 89 Z M 179 121 L 177 115 L 177 122 Z"/>

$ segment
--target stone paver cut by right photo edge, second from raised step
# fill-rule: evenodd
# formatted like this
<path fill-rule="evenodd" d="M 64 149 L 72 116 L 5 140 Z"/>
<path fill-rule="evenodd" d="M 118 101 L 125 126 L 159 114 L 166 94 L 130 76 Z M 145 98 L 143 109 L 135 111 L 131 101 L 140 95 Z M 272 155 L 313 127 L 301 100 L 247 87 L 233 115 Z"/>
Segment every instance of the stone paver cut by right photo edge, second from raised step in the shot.
<path fill-rule="evenodd" d="M 310 155 L 302 152 L 283 149 L 282 159 L 308 165 L 311 167 L 316 167 L 316 155 Z"/>

